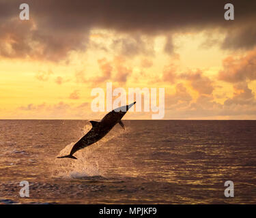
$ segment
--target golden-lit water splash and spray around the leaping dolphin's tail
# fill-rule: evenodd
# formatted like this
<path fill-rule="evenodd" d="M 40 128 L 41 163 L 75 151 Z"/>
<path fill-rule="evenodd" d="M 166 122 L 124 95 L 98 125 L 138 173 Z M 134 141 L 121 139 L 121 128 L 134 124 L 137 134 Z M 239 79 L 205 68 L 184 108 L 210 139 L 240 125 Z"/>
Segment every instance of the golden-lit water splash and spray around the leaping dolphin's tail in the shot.
<path fill-rule="evenodd" d="M 115 127 L 114 127 L 115 128 Z M 118 127 L 119 128 L 119 127 Z M 81 129 L 81 137 L 84 136 L 89 129 L 91 129 L 91 125 L 87 124 L 83 129 Z M 122 129 L 111 130 L 109 134 L 104 136 L 100 141 L 94 143 L 91 146 L 87 146 L 85 149 L 81 149 L 79 152 L 75 154 L 77 159 L 55 159 L 55 166 L 52 172 L 52 176 L 54 178 L 88 178 L 88 177 L 106 177 L 104 170 L 100 168 L 100 166 L 104 166 L 105 168 L 111 164 L 109 163 L 108 156 L 110 155 L 109 149 L 106 149 L 105 146 L 108 146 L 109 140 L 127 133 L 129 131 L 122 131 Z M 64 149 L 62 149 L 57 157 L 68 155 L 72 149 L 72 146 L 75 142 L 68 144 Z M 104 146 L 104 151 L 102 150 L 102 146 Z"/>

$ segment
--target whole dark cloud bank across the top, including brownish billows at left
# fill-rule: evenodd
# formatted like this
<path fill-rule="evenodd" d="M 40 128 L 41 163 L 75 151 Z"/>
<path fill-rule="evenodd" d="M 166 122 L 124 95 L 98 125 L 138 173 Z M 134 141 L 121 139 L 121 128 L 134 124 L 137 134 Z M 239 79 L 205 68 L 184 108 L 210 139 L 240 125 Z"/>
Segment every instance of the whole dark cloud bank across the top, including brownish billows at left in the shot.
<path fill-rule="evenodd" d="M 255 37 L 246 34 L 248 29 L 242 28 L 245 23 L 256 20 L 256 1 L 27 0 L 36 29 L 23 28 L 27 22 L 23 21 L 18 23 L 18 28 L 11 25 L 8 30 L 6 25 L 10 20 L 18 22 L 20 3 L 24 1 L 4 0 L 0 3 L 1 31 L 4 31 L 4 34 L 0 32 L 1 56 L 19 57 L 26 50 L 29 57 L 58 61 L 70 50 L 85 49 L 89 30 L 94 27 L 149 35 L 221 28 L 228 33 L 223 43 L 225 49 L 251 48 L 256 44 Z M 235 20 L 224 20 L 225 3 L 235 5 Z M 236 29 L 236 34 L 231 35 L 230 29 Z M 11 38 L 12 52 L 6 49 L 3 52 L 6 37 Z M 241 37 L 249 40 L 242 42 Z M 40 44 L 40 51 L 28 41 Z M 168 48 L 172 45 L 168 44 Z"/>

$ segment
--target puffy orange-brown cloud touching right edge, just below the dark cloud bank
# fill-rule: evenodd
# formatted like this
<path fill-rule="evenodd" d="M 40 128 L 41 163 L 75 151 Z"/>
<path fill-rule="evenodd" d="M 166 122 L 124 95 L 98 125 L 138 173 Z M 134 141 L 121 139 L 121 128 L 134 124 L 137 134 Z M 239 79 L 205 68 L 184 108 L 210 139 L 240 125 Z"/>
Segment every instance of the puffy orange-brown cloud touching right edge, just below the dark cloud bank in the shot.
<path fill-rule="evenodd" d="M 256 80 L 256 49 L 242 57 L 227 57 L 223 60 L 223 69 L 218 79 L 226 82 L 242 82 Z"/>

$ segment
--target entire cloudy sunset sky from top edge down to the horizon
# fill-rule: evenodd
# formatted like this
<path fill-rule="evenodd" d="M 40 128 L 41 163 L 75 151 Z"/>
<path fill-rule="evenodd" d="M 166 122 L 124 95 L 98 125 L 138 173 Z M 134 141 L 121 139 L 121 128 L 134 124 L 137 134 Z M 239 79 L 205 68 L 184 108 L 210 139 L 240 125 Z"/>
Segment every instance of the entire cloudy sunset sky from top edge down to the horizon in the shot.
<path fill-rule="evenodd" d="M 29 4 L 29 20 L 19 19 L 20 3 Z M 224 19 L 225 3 L 235 20 Z M 256 119 L 255 8 L 256 1 L 0 0 L 0 119 L 101 119 L 91 89 L 106 82 L 164 87 L 164 119 Z"/>

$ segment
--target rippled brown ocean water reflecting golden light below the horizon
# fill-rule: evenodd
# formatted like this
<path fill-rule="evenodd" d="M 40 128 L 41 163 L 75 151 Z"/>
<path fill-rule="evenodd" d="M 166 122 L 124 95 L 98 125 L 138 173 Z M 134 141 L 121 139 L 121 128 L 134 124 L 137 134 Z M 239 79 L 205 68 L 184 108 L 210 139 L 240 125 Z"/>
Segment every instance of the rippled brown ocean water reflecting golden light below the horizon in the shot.
<path fill-rule="evenodd" d="M 1 120 L 0 204 L 256 203 L 256 121 L 124 124 L 75 160 L 56 157 L 88 121 Z M 29 198 L 20 197 L 20 181 L 29 182 Z"/>

